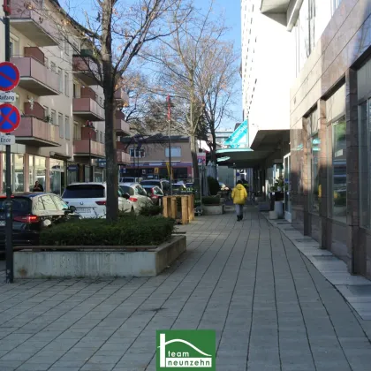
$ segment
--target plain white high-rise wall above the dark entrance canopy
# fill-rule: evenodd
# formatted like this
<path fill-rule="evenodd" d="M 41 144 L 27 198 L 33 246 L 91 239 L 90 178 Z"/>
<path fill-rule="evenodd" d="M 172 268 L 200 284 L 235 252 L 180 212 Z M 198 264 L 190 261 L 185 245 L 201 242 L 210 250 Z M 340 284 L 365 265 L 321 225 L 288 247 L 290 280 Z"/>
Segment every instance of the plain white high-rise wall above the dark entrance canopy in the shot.
<path fill-rule="evenodd" d="M 290 128 L 295 36 L 261 14 L 261 0 L 242 0 L 242 89 L 249 145 L 258 130 Z"/>

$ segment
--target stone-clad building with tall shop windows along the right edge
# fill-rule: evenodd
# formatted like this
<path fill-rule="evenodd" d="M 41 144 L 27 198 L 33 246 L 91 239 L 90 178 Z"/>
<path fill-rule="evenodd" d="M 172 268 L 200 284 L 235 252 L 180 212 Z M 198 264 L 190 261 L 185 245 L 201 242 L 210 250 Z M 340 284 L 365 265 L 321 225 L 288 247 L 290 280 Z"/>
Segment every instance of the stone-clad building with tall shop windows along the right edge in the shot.
<path fill-rule="evenodd" d="M 265 1 L 296 40 L 292 225 L 371 276 L 369 0 Z"/>

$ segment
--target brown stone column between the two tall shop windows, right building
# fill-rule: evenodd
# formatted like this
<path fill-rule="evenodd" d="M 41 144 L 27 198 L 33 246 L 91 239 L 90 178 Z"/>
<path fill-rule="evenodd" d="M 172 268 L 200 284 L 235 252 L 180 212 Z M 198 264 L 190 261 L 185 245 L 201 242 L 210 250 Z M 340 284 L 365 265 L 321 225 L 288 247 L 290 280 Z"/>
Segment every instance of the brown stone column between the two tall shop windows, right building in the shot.
<path fill-rule="evenodd" d="M 329 248 L 331 242 L 331 228 L 328 228 L 328 205 L 329 205 L 329 185 L 328 185 L 328 167 L 331 166 L 331 159 L 328 157 L 328 138 L 327 138 L 327 117 L 326 101 L 317 102 L 318 112 L 318 136 L 321 140 L 321 150 L 319 156 L 319 177 L 321 186 L 320 197 L 320 218 L 321 218 L 321 241 L 322 249 Z"/>

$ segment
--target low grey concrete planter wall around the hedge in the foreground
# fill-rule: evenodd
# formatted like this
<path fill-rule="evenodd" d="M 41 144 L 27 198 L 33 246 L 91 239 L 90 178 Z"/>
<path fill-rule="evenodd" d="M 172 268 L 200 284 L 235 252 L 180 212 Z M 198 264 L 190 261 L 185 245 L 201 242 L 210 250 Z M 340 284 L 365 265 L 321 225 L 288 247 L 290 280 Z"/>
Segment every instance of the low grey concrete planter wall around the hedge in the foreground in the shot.
<path fill-rule="evenodd" d="M 65 250 L 68 246 L 64 246 Z M 40 246 L 42 248 L 42 246 Z M 97 251 L 95 251 L 97 250 Z M 19 251 L 14 253 L 16 278 L 157 276 L 186 251 L 186 236 L 147 251 Z M 116 251 L 115 251 L 116 250 Z"/>

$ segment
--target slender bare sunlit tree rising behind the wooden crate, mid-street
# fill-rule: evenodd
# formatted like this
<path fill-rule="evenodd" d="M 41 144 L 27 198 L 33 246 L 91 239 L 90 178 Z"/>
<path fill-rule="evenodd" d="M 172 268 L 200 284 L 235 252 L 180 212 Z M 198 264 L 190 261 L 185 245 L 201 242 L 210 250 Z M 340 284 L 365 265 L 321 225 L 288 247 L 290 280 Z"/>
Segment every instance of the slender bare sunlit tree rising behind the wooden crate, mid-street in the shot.
<path fill-rule="evenodd" d="M 163 95 L 170 94 L 178 117 L 171 117 L 171 125 L 182 126 L 191 140 L 194 178 L 199 178 L 197 136 L 204 119 L 204 92 L 199 83 L 203 63 L 210 50 L 225 31 L 223 22 L 213 19 L 213 3 L 205 14 L 194 11 L 192 17 L 172 19 L 170 42 L 164 42 L 155 56 L 149 57 L 159 64 L 159 84 Z M 173 110 L 173 111 L 174 111 Z M 182 117 L 183 113 L 183 117 Z M 173 116 L 173 115 L 172 115 Z"/>

